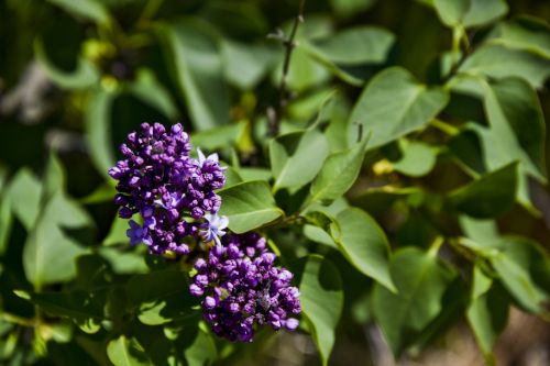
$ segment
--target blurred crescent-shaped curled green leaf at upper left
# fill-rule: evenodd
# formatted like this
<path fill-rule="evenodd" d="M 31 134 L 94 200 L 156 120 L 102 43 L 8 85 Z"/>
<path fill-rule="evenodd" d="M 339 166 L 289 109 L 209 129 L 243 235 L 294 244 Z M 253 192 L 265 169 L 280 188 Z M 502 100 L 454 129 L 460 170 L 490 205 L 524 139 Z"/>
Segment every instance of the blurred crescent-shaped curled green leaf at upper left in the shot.
<path fill-rule="evenodd" d="M 47 57 L 41 38 L 36 38 L 34 42 L 34 54 L 47 77 L 63 89 L 87 88 L 99 80 L 98 70 L 84 57 L 78 57 L 76 70 L 73 73 L 66 73 L 57 68 Z"/>

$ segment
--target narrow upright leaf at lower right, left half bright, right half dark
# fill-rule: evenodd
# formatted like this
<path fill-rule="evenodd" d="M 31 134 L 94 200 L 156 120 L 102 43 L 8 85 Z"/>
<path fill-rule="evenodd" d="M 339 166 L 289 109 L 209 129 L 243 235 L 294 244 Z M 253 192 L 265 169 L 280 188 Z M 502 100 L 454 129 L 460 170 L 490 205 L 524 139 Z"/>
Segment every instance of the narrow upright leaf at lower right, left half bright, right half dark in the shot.
<path fill-rule="evenodd" d="M 474 267 L 466 318 L 488 365 L 495 365 L 493 346 L 508 321 L 509 299 L 480 267 Z"/>

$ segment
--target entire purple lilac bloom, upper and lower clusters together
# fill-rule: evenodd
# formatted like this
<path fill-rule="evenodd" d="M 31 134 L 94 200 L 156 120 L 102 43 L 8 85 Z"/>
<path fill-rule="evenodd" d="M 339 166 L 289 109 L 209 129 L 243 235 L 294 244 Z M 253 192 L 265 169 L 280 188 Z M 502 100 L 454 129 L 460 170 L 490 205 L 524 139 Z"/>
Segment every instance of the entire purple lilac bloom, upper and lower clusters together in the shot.
<path fill-rule="evenodd" d="M 232 342 L 252 342 L 254 325 L 295 330 L 299 322 L 299 291 L 293 274 L 274 266 L 275 254 L 256 233 L 226 235 L 228 218 L 217 213 L 224 168 L 218 155 L 189 156 L 189 136 L 180 124 L 165 127 L 143 123 L 120 147 L 124 159 L 109 170 L 117 179 L 114 202 L 119 215 L 130 220 L 132 245 L 144 243 L 151 254 L 186 255 L 194 248 L 197 274 L 189 291 L 202 298 L 202 312 L 213 332 Z M 197 243 L 210 245 L 197 245 Z M 213 246 L 212 246 L 213 245 Z M 210 248 L 210 249 L 209 249 Z M 207 259 L 205 259 L 205 256 Z"/>

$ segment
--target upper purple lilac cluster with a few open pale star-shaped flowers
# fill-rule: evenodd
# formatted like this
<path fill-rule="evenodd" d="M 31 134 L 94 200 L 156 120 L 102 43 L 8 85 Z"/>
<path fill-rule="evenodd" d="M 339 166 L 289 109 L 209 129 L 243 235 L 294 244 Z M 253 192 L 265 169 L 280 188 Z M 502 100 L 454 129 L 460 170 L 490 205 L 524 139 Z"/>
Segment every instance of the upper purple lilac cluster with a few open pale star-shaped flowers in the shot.
<path fill-rule="evenodd" d="M 145 243 L 152 254 L 188 254 L 189 245 L 200 239 L 219 242 L 227 219 L 217 215 L 226 176 L 218 155 L 189 156 L 191 145 L 182 124 L 170 131 L 155 123 L 143 123 L 141 132 L 128 135 L 120 151 L 124 158 L 109 170 L 119 180 L 114 202 L 119 215 L 141 214 L 143 224 L 130 220 L 130 243 Z"/>

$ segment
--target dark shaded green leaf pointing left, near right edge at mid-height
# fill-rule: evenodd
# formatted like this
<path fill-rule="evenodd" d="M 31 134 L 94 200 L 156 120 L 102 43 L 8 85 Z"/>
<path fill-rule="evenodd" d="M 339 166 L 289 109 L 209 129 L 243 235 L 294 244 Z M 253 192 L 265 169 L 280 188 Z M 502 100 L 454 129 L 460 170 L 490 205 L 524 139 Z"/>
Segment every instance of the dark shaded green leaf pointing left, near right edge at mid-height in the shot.
<path fill-rule="evenodd" d="M 514 204 L 517 189 L 517 164 L 490 173 L 449 195 L 451 204 L 473 218 L 494 218 Z"/>

